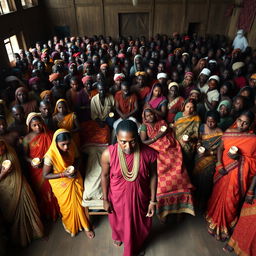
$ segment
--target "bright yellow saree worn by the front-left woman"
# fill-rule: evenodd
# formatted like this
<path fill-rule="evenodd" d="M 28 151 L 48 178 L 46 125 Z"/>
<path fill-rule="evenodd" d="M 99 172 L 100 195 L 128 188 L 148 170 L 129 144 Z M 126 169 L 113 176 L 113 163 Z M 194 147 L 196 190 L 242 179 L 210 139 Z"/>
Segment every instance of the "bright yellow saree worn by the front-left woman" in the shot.
<path fill-rule="evenodd" d="M 63 157 L 56 143 L 56 137 L 68 132 L 65 129 L 57 130 L 53 135 L 50 148 L 45 154 L 45 164 L 53 167 L 53 173 L 62 173 L 65 169 L 74 164 L 75 161 L 75 145 L 72 142 L 68 156 Z M 85 216 L 82 207 L 83 180 L 79 172 L 75 178 L 58 178 L 49 180 L 52 191 L 56 196 L 60 212 L 62 214 L 62 223 L 65 230 L 75 236 L 82 229 L 89 231 L 89 222 Z"/>

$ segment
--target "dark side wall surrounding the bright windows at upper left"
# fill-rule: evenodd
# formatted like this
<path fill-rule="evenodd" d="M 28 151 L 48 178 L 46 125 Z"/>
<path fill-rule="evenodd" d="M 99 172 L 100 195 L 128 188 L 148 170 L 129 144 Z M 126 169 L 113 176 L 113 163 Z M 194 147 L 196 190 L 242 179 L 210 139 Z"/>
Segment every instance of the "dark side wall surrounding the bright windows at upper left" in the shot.
<path fill-rule="evenodd" d="M 17 11 L 0 15 L 0 67 L 9 64 L 4 47 L 4 39 L 16 34 L 21 48 L 30 47 L 38 40 L 47 38 L 48 29 L 45 21 L 44 7 L 41 1 L 36 7 L 23 9 L 20 0 L 15 0 Z M 20 36 L 23 33 L 24 40 Z M 24 41 L 26 44 L 24 44 Z"/>

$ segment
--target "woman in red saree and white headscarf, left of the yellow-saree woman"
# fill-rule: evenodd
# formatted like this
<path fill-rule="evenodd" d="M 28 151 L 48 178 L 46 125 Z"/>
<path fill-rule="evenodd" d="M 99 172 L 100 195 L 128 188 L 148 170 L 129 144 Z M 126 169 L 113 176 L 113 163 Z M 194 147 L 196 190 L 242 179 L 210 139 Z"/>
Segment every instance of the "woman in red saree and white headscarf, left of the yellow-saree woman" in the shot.
<path fill-rule="evenodd" d="M 29 134 L 24 138 L 23 145 L 26 160 L 29 162 L 29 173 L 32 188 L 35 191 L 40 213 L 43 217 L 56 220 L 59 215 L 58 202 L 52 192 L 50 183 L 43 177 L 42 165 L 35 164 L 33 159 L 41 161 L 52 142 L 52 133 L 46 127 L 40 114 L 32 112 L 27 117 Z"/>

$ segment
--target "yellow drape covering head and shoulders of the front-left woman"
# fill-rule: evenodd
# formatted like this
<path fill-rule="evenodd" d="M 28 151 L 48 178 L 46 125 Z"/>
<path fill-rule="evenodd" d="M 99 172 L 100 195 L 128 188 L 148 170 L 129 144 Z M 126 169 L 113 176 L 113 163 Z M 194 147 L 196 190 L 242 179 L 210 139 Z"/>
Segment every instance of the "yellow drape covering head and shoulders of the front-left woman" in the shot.
<path fill-rule="evenodd" d="M 59 151 L 59 148 L 58 148 L 58 145 L 56 142 L 56 138 L 58 135 L 60 135 L 62 133 L 70 133 L 70 132 L 66 129 L 58 129 L 54 133 L 52 143 L 51 143 L 48 151 L 45 154 L 45 157 L 48 157 L 51 159 L 52 164 L 54 166 L 54 171 L 56 171 L 58 173 L 63 172 L 64 170 L 67 169 L 68 166 L 74 164 L 74 160 L 75 160 L 75 144 L 74 144 L 73 140 L 71 140 L 70 149 L 68 151 L 68 154 L 65 155 L 65 160 Z"/>

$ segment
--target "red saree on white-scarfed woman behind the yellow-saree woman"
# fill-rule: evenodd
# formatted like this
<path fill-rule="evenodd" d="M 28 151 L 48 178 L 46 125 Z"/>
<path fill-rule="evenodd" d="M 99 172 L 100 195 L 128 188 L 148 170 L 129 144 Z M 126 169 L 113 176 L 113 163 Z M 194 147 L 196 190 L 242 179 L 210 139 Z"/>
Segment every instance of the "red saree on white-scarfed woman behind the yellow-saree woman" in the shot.
<path fill-rule="evenodd" d="M 51 132 L 42 132 L 36 135 L 29 142 L 29 157 L 31 159 L 39 157 L 43 159 L 46 151 L 52 142 Z M 38 207 L 42 216 L 56 220 L 59 215 L 59 205 L 56 197 L 52 192 L 48 180 L 43 177 L 42 168 L 34 168 L 29 165 L 29 174 L 32 181 L 32 188 L 37 196 Z"/>

